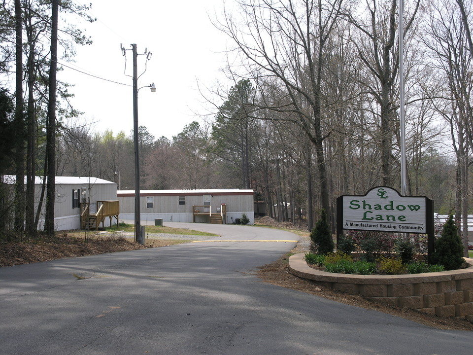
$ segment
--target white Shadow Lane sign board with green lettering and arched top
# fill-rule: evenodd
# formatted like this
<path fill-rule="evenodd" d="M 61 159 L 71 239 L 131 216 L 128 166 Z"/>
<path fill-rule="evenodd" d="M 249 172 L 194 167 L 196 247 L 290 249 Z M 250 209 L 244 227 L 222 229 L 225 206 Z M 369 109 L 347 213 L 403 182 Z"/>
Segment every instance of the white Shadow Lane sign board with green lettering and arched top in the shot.
<path fill-rule="evenodd" d="M 343 229 L 427 233 L 425 197 L 400 196 L 385 186 L 365 196 L 342 197 Z"/>

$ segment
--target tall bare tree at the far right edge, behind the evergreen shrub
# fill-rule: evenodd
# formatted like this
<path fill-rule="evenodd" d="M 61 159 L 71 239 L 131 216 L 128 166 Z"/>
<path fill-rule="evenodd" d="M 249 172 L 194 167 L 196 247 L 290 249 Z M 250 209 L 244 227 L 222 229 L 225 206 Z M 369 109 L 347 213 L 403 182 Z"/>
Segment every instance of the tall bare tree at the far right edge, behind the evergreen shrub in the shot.
<path fill-rule="evenodd" d="M 464 11 L 464 10 L 463 10 Z M 470 126 L 473 121 L 472 52 L 468 49 L 468 31 L 461 9 L 449 1 L 429 3 L 429 22 L 422 40 L 431 53 L 431 66 L 442 74 L 443 104 L 437 111 L 447 120 L 457 160 L 456 218 L 463 216 L 463 241 L 468 256 L 468 194 L 469 167 L 472 164 L 473 140 Z M 469 21 L 468 21 L 469 22 Z"/>

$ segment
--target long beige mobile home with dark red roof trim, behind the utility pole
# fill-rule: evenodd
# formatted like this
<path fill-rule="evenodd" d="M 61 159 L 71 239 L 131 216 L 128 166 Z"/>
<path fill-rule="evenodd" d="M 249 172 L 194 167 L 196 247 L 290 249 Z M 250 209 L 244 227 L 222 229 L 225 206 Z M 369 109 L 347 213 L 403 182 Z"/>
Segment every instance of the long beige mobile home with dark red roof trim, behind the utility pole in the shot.
<path fill-rule="evenodd" d="M 135 191 L 117 191 L 120 219 L 135 218 Z M 231 224 L 245 213 L 254 224 L 253 190 L 141 190 L 141 221 Z"/>

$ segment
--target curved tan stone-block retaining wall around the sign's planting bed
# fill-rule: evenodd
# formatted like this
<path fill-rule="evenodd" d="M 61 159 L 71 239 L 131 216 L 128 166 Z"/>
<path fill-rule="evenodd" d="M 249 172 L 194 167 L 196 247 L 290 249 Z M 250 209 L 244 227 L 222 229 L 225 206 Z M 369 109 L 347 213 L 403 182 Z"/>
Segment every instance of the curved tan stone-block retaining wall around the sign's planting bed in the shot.
<path fill-rule="evenodd" d="M 372 301 L 473 323 L 473 259 L 462 270 L 412 275 L 345 275 L 315 270 L 304 253 L 289 258 L 291 272 L 334 290 L 361 294 Z"/>

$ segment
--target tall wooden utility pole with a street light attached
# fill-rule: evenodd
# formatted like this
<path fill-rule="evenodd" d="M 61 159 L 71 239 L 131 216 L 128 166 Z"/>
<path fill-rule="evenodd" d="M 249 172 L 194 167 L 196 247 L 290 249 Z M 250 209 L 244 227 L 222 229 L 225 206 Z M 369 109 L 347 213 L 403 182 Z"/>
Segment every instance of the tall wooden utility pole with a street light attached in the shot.
<path fill-rule="evenodd" d="M 156 92 L 154 83 L 149 86 L 143 86 L 138 89 L 138 65 L 136 51 L 136 44 L 132 44 L 133 51 L 133 129 L 135 141 L 135 242 L 144 244 L 144 238 L 141 234 L 141 213 L 139 208 L 139 153 L 138 153 L 138 90 L 143 87 L 151 88 L 151 92 Z M 146 54 L 146 51 L 145 53 Z M 151 56 L 148 54 L 146 59 L 149 60 Z"/>

